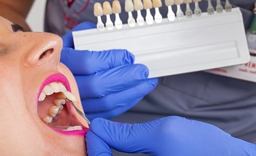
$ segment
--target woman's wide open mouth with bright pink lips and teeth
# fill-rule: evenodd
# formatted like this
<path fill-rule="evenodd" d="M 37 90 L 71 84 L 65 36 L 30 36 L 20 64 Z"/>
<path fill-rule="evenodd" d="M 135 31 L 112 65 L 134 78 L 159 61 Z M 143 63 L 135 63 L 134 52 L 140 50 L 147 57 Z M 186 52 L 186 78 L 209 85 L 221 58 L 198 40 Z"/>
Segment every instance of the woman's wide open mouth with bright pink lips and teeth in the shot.
<path fill-rule="evenodd" d="M 62 74 L 49 76 L 40 89 L 38 115 L 40 119 L 57 132 L 85 134 L 88 130 L 76 117 L 71 103 L 66 99 L 76 99 L 66 77 Z"/>

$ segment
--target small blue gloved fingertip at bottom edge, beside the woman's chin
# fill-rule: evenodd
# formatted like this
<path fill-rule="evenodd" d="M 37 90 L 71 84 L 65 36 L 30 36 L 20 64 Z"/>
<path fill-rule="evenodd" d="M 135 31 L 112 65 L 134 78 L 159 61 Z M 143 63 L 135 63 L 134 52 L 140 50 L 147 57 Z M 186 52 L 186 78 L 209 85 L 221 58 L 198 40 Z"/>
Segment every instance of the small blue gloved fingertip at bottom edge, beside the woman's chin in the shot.
<path fill-rule="evenodd" d="M 104 142 L 101 138 L 97 135 L 88 131 L 86 134 L 86 146 L 87 146 L 87 153 L 88 156 L 110 156 L 112 152 L 109 146 Z"/>

